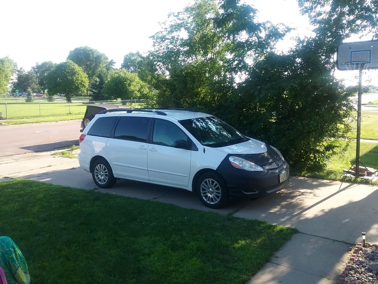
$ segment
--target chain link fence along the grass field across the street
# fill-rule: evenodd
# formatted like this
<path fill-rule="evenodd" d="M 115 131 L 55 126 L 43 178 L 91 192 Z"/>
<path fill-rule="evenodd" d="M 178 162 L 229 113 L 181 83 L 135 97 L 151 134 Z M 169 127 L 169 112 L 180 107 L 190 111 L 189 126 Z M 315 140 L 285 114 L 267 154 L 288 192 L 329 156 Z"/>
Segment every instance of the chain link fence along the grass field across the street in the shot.
<path fill-rule="evenodd" d="M 0 101 L 0 120 L 23 119 L 36 117 L 52 117 L 61 115 L 84 114 L 87 105 L 96 105 L 99 103 L 107 103 L 113 105 L 127 105 L 132 108 L 143 107 L 144 100 L 113 100 L 113 101 L 88 101 L 73 100 L 70 103 L 47 102 L 38 100 L 26 103 L 25 99 L 14 99 Z M 15 101 L 15 102 L 13 102 Z M 23 102 L 20 102 L 23 101 Z"/>

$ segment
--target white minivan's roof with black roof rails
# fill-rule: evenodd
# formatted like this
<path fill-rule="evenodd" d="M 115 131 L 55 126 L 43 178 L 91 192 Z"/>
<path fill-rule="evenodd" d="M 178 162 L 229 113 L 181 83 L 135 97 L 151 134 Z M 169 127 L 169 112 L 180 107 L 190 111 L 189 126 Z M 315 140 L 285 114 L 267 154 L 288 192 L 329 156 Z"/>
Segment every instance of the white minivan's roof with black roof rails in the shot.
<path fill-rule="evenodd" d="M 145 110 L 145 111 L 143 111 Z M 197 118 L 197 117 L 207 117 L 207 116 L 212 116 L 211 114 L 206 114 L 206 113 L 203 113 L 203 112 L 197 112 L 197 111 L 194 111 L 192 109 L 188 109 L 188 110 L 181 110 L 181 109 L 164 109 L 164 108 L 148 108 L 148 109 L 135 109 L 134 112 L 130 112 L 130 111 L 133 111 L 132 109 L 128 110 L 128 111 L 122 111 L 122 109 L 116 109 L 116 110 L 109 110 L 107 112 L 107 114 L 114 114 L 116 111 L 116 113 L 118 114 L 127 114 L 127 115 L 131 115 L 131 114 L 149 114 L 149 115 L 153 115 L 154 117 L 156 118 L 162 118 L 164 119 L 164 117 L 171 117 L 173 119 L 177 119 L 177 120 L 183 120 L 183 119 L 193 119 L 193 118 Z M 106 114 L 105 114 L 106 115 Z"/>

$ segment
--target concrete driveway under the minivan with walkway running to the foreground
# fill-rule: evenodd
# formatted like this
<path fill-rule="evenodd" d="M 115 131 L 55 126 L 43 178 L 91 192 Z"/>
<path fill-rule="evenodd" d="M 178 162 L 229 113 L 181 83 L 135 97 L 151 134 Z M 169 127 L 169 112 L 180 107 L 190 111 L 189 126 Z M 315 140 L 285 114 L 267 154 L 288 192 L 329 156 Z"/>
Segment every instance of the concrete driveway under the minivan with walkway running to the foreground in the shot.
<path fill-rule="evenodd" d="M 299 229 L 301 233 L 278 250 L 249 284 L 335 283 L 349 247 L 359 241 L 362 231 L 367 232 L 368 241 L 378 243 L 377 186 L 294 177 L 286 189 L 273 195 L 252 201 L 232 200 L 227 208 L 213 210 L 204 207 L 191 192 L 170 187 L 119 180 L 111 189 L 98 189 L 77 159 L 55 158 L 51 152 L 5 158 L 0 161 L 0 181 L 28 178 Z"/>

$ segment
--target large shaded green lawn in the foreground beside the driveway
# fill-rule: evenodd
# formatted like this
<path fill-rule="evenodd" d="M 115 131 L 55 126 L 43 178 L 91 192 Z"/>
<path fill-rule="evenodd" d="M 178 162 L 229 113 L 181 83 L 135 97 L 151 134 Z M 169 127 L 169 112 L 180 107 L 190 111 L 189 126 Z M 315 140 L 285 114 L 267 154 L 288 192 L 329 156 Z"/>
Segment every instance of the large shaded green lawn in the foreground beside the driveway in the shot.
<path fill-rule="evenodd" d="M 25 179 L 0 183 L 0 207 L 32 283 L 245 283 L 297 232 Z"/>

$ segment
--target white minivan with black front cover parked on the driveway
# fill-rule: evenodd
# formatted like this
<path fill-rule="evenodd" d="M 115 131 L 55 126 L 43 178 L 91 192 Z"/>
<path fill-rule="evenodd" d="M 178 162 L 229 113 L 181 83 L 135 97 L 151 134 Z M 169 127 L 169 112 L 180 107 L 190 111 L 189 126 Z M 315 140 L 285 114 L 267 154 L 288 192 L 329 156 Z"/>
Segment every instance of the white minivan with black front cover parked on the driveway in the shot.
<path fill-rule="evenodd" d="M 178 187 L 210 208 L 277 192 L 289 179 L 276 148 L 193 109 L 108 109 L 79 142 L 79 163 L 98 187 L 120 178 Z"/>

